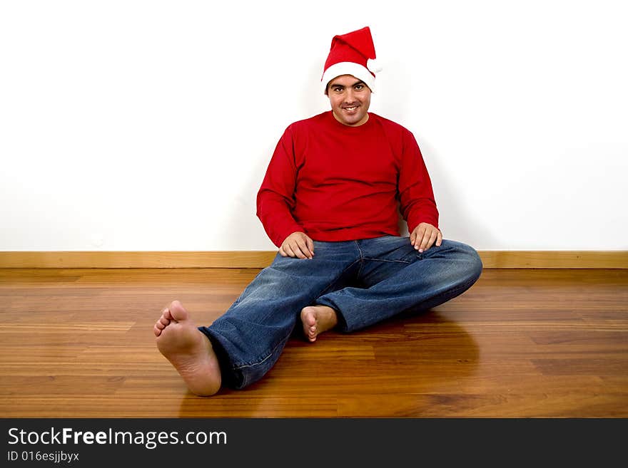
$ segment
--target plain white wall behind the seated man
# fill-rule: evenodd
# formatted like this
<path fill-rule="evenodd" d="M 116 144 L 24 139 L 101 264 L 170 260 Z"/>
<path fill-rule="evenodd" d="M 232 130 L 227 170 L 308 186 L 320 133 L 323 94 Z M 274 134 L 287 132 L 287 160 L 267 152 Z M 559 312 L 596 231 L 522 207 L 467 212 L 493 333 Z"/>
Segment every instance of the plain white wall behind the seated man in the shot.
<path fill-rule="evenodd" d="M 0 250 L 266 250 L 284 128 L 369 25 L 445 237 L 628 249 L 624 1 L 2 1 Z"/>

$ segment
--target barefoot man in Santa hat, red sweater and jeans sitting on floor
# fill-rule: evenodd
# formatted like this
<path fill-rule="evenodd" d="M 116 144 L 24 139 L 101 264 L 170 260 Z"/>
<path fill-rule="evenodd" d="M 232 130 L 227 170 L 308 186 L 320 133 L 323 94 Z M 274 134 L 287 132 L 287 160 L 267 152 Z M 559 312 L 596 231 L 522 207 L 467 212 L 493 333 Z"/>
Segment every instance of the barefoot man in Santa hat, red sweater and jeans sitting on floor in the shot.
<path fill-rule="evenodd" d="M 288 126 L 275 148 L 257 197 L 273 264 L 211 326 L 178 301 L 162 311 L 158 349 L 196 395 L 262 378 L 295 328 L 310 342 L 349 333 L 427 311 L 480 276 L 472 247 L 442 239 L 412 133 L 368 113 L 374 59 L 368 27 L 335 36 L 321 79 L 331 110 Z"/>

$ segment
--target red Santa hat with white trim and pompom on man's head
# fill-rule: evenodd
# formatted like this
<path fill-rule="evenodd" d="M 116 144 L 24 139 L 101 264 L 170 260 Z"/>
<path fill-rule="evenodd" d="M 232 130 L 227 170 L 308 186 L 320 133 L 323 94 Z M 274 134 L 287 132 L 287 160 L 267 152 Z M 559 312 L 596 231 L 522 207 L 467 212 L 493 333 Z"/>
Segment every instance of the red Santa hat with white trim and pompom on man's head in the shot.
<path fill-rule="evenodd" d="M 332 39 L 320 83 L 323 85 L 323 93 L 326 94 L 331 80 L 341 75 L 352 75 L 362 80 L 373 92 L 375 73 L 380 71 L 381 68 L 375 63 L 373 37 L 370 28 L 366 26 Z"/>

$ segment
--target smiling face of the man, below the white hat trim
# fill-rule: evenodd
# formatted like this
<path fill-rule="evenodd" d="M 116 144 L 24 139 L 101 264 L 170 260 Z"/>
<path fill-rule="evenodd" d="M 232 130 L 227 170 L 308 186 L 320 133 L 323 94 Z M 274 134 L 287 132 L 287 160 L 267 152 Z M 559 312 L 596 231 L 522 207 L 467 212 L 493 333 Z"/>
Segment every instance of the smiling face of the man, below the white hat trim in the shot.
<path fill-rule="evenodd" d="M 351 75 L 338 76 L 329 82 L 327 94 L 338 122 L 350 127 L 366 123 L 370 89 L 363 81 Z"/>

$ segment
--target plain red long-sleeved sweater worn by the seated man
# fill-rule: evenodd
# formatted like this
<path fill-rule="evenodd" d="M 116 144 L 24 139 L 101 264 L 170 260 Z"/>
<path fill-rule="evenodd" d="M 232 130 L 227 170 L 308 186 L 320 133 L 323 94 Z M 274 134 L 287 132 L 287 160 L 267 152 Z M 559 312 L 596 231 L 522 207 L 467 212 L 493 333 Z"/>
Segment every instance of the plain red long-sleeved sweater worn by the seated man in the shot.
<path fill-rule="evenodd" d="M 410 232 L 421 222 L 438 227 L 415 137 L 373 113 L 359 127 L 331 110 L 290 125 L 257 196 L 257 215 L 276 246 L 296 231 L 317 241 L 398 236 L 399 212 Z"/>

